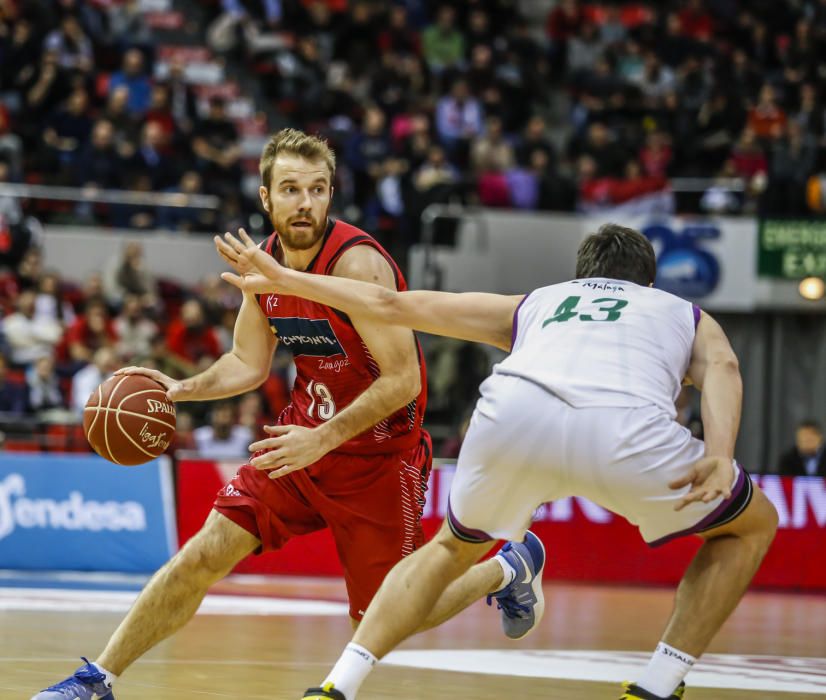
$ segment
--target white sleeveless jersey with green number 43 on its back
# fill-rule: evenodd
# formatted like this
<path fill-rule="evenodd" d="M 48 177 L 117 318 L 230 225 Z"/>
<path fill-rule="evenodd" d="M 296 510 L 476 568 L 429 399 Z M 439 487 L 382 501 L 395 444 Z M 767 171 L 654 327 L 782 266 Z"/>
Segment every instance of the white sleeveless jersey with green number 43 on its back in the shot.
<path fill-rule="evenodd" d="M 531 292 L 495 373 L 524 377 L 575 407 L 650 406 L 676 416 L 696 327 L 690 302 L 652 287 L 581 279 Z"/>

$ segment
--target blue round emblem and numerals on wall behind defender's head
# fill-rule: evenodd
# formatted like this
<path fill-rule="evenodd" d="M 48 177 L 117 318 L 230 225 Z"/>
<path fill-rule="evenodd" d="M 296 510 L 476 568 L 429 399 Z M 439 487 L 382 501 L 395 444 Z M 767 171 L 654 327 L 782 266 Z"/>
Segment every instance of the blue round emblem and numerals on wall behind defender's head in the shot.
<path fill-rule="evenodd" d="M 704 241 L 720 238 L 717 226 L 692 223 L 676 231 L 668 223 L 654 223 L 641 231 L 657 253 L 657 288 L 694 299 L 708 296 L 717 288 L 720 263 L 701 247 Z"/>

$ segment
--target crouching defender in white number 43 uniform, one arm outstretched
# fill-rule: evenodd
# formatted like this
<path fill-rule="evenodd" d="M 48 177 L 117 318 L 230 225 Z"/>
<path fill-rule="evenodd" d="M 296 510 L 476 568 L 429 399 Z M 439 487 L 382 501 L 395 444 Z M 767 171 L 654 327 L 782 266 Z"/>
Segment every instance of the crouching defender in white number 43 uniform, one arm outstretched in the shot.
<path fill-rule="evenodd" d="M 493 539 L 521 538 L 538 505 L 565 496 L 624 516 L 652 546 L 692 533 L 704 539 L 662 641 L 621 696 L 682 698 L 683 677 L 768 550 L 777 513 L 734 461 L 742 383 L 731 346 L 708 314 L 651 288 L 648 240 L 607 224 L 580 246 L 577 279 L 506 297 L 398 293 L 297 273 L 242 238 L 228 234 L 220 244 L 245 261 L 249 274 L 225 279 L 246 291 L 303 296 L 350 316 L 510 350 L 482 384 L 445 525 L 387 575 L 353 642 L 305 698 L 353 700 L 376 659 L 416 631 Z M 675 420 L 684 381 L 702 391 L 704 442 Z M 524 592 L 526 607 L 541 604 Z"/>

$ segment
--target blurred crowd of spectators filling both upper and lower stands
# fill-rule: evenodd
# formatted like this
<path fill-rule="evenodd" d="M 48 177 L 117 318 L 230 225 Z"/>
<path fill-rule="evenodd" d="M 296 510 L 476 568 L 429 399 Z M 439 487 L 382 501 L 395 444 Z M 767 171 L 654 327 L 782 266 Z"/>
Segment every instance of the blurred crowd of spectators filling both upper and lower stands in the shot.
<path fill-rule="evenodd" d="M 402 266 L 433 203 L 818 214 L 824 85 L 826 0 L 0 0 L 0 184 L 218 198 L 0 194 L 7 445 L 34 417 L 38 449 L 85 449 L 71 423 L 101 378 L 192 373 L 229 347 L 238 303 L 216 279 L 155 279 L 136 244 L 62 279 L 38 222 L 263 235 L 258 157 L 286 125 L 330 141 L 336 213 Z M 433 415 L 455 425 L 490 357 L 429 354 Z M 184 406 L 180 446 L 247 444 L 291 371 L 279 355 L 240 403 Z"/>

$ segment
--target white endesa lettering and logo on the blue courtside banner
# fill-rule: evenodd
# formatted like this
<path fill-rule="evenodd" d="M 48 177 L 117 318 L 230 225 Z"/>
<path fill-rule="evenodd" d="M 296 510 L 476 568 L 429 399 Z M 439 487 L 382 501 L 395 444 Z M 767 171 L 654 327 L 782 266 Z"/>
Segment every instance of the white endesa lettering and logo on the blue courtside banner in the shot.
<path fill-rule="evenodd" d="M 11 473 L 0 481 L 0 540 L 18 527 L 142 532 L 146 511 L 136 501 L 86 500 L 80 491 L 71 491 L 65 500 L 26 498 L 25 478 Z"/>

